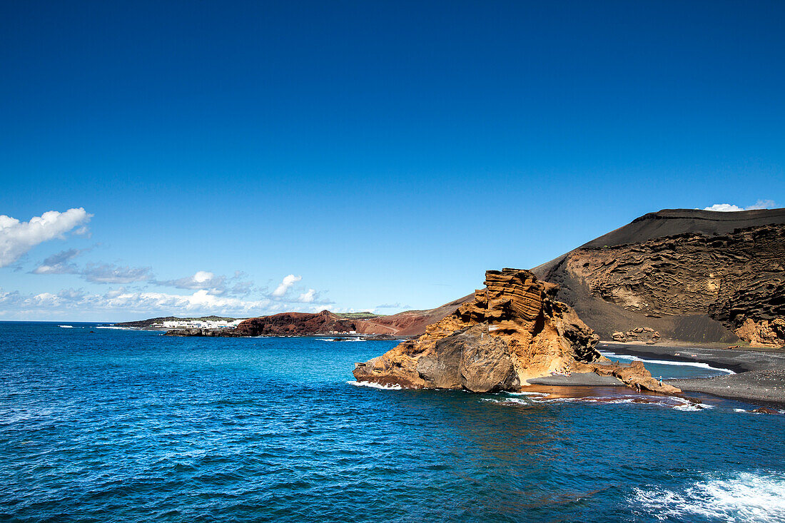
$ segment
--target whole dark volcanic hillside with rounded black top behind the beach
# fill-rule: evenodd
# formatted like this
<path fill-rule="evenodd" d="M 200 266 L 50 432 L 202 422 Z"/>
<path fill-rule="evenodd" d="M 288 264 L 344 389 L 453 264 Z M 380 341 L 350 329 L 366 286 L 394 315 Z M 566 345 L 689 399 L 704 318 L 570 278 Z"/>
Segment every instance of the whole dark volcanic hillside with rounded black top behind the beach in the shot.
<path fill-rule="evenodd" d="M 532 269 L 604 339 L 785 344 L 785 210 L 646 214 Z"/>

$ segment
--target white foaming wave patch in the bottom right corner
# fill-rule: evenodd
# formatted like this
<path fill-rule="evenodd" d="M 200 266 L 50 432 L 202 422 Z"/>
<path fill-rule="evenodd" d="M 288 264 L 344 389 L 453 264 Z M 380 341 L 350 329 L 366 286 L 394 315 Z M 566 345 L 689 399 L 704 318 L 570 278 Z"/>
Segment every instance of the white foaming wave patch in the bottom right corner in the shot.
<path fill-rule="evenodd" d="M 630 502 L 658 519 L 785 521 L 785 475 L 740 473 L 733 477 L 708 476 L 681 490 L 638 488 Z"/>

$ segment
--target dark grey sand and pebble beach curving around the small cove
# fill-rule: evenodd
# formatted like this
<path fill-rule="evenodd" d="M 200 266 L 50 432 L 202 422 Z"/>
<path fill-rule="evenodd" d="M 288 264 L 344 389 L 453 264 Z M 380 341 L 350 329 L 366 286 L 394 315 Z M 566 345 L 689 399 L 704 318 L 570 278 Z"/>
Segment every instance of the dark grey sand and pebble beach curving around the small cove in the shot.
<path fill-rule="evenodd" d="M 712 394 L 732 400 L 785 405 L 785 351 L 782 349 L 717 349 L 706 346 L 660 346 L 601 342 L 597 349 L 644 360 L 709 364 L 736 372 L 712 378 L 667 379 L 683 392 Z"/>

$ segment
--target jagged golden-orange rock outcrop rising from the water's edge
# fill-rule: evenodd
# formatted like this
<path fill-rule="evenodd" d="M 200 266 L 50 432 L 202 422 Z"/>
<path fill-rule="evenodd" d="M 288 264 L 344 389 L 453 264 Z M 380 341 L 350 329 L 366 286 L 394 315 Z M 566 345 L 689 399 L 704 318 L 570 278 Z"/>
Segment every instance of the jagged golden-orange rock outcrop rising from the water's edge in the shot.
<path fill-rule="evenodd" d="M 517 390 L 526 379 L 600 358 L 599 337 L 526 270 L 485 273 L 485 288 L 415 340 L 366 363 L 358 381 L 410 388 Z"/>

